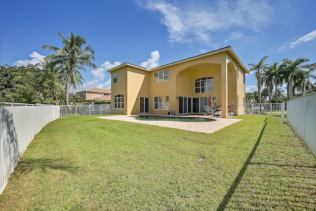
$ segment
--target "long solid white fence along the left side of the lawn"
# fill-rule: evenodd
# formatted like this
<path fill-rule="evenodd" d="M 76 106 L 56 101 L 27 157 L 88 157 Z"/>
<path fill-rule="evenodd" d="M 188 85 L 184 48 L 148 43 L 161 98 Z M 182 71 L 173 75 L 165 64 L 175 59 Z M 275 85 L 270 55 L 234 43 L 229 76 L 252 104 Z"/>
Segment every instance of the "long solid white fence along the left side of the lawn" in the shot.
<path fill-rule="evenodd" d="M 0 102 L 0 193 L 34 136 L 59 118 L 59 106 Z"/>

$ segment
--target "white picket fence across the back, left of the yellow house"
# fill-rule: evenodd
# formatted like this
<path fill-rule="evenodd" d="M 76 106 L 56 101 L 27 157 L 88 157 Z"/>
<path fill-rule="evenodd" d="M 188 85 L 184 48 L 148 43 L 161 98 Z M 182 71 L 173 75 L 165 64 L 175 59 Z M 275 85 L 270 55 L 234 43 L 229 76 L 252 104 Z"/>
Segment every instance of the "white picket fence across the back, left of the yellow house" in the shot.
<path fill-rule="evenodd" d="M 61 118 L 97 114 L 111 114 L 111 104 L 60 106 Z"/>

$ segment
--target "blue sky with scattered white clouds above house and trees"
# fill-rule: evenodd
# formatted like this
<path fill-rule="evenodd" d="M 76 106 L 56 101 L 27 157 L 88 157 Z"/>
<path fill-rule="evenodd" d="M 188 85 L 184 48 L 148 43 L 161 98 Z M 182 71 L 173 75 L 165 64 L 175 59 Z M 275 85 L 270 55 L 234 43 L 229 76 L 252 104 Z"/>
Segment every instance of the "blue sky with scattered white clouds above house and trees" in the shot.
<path fill-rule="evenodd" d="M 57 32 L 85 37 L 98 69 L 80 89 L 111 88 L 106 71 L 125 62 L 153 68 L 231 45 L 242 62 L 316 62 L 315 0 L 5 0 L 0 65 L 38 63 L 62 47 Z M 249 66 L 247 66 L 250 68 Z M 255 91 L 254 74 L 246 92 Z"/>

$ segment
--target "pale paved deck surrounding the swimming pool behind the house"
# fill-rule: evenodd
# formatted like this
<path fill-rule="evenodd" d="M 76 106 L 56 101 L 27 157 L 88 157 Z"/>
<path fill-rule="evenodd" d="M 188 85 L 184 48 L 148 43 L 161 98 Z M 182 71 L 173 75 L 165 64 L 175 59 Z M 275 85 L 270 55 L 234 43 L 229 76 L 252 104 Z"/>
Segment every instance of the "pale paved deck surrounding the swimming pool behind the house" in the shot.
<path fill-rule="evenodd" d="M 152 114 L 146 114 L 152 115 Z M 202 116 L 202 115 L 174 115 L 174 117 L 199 117 L 199 118 L 209 118 L 214 119 L 215 121 L 212 122 L 176 122 L 176 121 L 151 121 L 151 120 L 136 120 L 135 116 L 142 116 L 140 115 L 115 115 L 115 116 L 104 116 L 98 117 L 100 119 L 107 119 L 107 120 L 116 120 L 116 121 L 125 121 L 125 122 L 132 122 L 132 123 L 140 123 L 140 124 L 147 124 L 147 125 L 154 125 L 159 127 L 171 127 L 176 129 L 183 129 L 183 130 L 190 130 L 195 132 L 204 132 L 204 133 L 213 133 L 217 130 L 220 130 L 224 127 L 230 126 L 234 123 L 241 121 L 241 119 L 231 119 L 231 118 L 214 118 L 212 116 Z M 168 115 L 152 115 L 152 116 L 168 116 Z"/>

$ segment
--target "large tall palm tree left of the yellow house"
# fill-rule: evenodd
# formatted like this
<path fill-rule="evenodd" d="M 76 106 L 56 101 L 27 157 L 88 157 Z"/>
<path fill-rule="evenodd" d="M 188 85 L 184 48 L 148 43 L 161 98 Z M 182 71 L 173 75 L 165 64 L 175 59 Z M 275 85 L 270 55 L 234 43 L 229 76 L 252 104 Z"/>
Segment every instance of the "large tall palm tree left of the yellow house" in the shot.
<path fill-rule="evenodd" d="M 79 70 L 85 70 L 83 66 L 96 69 L 97 65 L 91 62 L 91 60 L 95 59 L 94 49 L 90 45 L 82 49 L 82 46 L 86 44 L 84 37 L 74 35 L 71 32 L 69 39 L 66 39 L 62 34 L 57 34 L 63 40 L 63 48 L 52 45 L 43 45 L 42 48 L 57 52 L 57 54 L 47 56 L 46 59 L 51 59 L 55 64 L 59 64 L 61 70 L 64 72 L 66 81 L 66 104 L 69 105 L 70 86 L 80 87 L 82 81 L 84 81 Z"/>

